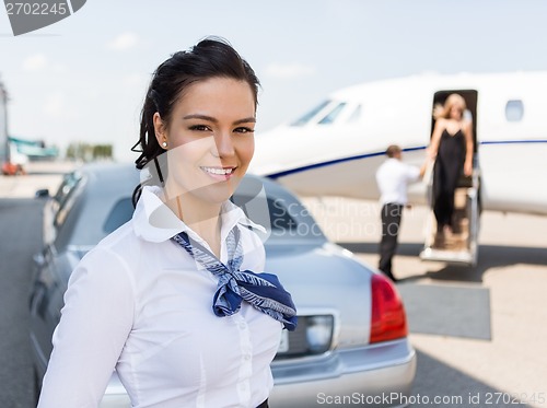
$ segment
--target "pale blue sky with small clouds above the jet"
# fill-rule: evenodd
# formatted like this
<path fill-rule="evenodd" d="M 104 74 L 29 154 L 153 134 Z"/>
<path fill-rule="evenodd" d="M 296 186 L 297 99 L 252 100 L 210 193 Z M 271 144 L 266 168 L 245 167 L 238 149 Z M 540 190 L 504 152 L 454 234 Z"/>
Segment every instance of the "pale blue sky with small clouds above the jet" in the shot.
<path fill-rule="evenodd" d="M 110 143 L 132 161 L 155 68 L 226 38 L 261 82 L 256 136 L 341 88 L 423 72 L 547 70 L 544 0 L 88 0 L 73 15 L 13 36 L 0 9 L 0 81 L 9 132 Z"/>

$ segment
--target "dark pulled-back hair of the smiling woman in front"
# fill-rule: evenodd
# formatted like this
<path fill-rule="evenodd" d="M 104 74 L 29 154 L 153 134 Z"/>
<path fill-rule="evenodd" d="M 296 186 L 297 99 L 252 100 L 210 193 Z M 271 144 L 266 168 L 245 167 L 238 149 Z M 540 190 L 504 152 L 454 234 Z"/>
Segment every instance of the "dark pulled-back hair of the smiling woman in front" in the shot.
<path fill-rule="evenodd" d="M 135 161 L 137 168 L 142 170 L 154 161 L 160 182 L 163 183 L 156 158 L 165 150 L 155 137 L 154 114 L 158 112 L 168 125 L 176 102 L 184 96 L 189 84 L 219 77 L 247 82 L 254 93 L 255 107 L 258 105 L 258 78 L 251 66 L 223 38 L 207 37 L 187 51 L 173 54 L 158 67 L 142 106 L 139 141 L 131 149 L 141 153 Z M 137 186 L 133 193 L 133 202 L 139 199 L 140 187 Z"/>

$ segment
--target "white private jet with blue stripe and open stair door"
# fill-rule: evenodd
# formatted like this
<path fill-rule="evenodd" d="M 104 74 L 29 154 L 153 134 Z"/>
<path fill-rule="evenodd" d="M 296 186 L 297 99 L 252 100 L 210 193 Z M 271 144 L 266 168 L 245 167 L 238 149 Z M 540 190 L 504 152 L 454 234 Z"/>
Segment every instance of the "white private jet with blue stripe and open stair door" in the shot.
<path fill-rule="evenodd" d="M 330 94 L 296 120 L 256 137 L 251 172 L 301 196 L 377 199 L 375 172 L 388 144 L 404 161 L 426 160 L 433 106 L 461 94 L 473 119 L 474 172 L 456 190 L 452 240 L 438 245 L 428 220 L 426 260 L 477 261 L 481 210 L 547 215 L 547 71 L 426 73 L 366 82 Z M 431 172 L 411 186 L 414 203 L 431 205 Z"/>

